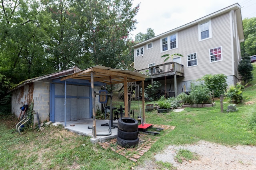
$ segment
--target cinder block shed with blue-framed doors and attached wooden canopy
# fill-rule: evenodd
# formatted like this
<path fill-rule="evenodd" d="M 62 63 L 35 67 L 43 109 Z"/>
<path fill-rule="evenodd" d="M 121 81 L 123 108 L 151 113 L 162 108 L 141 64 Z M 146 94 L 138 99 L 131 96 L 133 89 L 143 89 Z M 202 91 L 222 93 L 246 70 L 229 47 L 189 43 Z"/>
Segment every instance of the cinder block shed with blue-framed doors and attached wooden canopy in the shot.
<path fill-rule="evenodd" d="M 124 84 L 124 109 L 128 117 L 128 82 L 142 82 L 148 76 L 130 70 L 110 68 L 106 66 L 93 66 L 80 70 L 77 67 L 40 76 L 21 82 L 11 89 L 12 113 L 20 113 L 24 104 L 34 104 L 34 111 L 38 112 L 40 121 L 74 121 L 93 118 L 95 120 L 94 92 L 98 92 L 102 85 Z M 142 106 L 144 108 L 144 90 L 142 90 Z M 145 118 L 143 109 L 142 117 Z M 144 119 L 145 121 L 145 119 Z M 34 124 L 37 122 L 34 116 Z M 96 126 L 94 126 L 96 138 Z"/>

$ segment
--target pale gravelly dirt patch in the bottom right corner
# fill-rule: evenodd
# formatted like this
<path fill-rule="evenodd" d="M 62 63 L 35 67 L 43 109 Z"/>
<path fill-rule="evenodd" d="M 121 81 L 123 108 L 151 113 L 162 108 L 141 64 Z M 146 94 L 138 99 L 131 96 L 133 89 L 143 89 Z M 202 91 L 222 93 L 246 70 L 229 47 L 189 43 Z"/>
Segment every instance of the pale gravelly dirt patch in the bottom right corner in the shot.
<path fill-rule="evenodd" d="M 176 151 L 187 149 L 200 156 L 200 160 L 179 164 L 174 160 Z M 255 170 L 256 147 L 224 145 L 200 141 L 194 145 L 168 146 L 162 153 L 154 156 L 155 161 L 170 162 L 177 170 Z M 146 166 L 136 170 L 156 170 L 155 161 L 145 162 Z"/>

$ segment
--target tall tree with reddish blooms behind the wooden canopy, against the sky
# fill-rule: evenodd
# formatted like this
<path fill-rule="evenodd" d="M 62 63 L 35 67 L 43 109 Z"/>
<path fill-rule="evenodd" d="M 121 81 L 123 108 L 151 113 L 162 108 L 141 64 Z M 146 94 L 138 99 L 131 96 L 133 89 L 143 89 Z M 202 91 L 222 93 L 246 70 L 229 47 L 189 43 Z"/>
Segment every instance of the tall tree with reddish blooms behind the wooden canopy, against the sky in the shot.
<path fill-rule="evenodd" d="M 80 25 L 83 44 L 94 64 L 118 67 L 126 62 L 129 33 L 135 28 L 138 6 L 132 0 L 81 0 L 74 2 L 76 12 L 84 16 Z M 130 63 L 125 63 L 126 65 Z"/>

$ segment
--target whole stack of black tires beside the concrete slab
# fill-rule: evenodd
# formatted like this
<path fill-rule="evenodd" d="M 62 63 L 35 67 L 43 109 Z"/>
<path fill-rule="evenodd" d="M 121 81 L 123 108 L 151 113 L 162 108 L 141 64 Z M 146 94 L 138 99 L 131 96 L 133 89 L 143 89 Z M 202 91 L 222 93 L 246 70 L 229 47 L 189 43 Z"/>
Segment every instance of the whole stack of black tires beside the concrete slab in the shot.
<path fill-rule="evenodd" d="M 118 119 L 117 143 L 121 147 L 132 148 L 139 143 L 138 121 L 130 117 Z"/>

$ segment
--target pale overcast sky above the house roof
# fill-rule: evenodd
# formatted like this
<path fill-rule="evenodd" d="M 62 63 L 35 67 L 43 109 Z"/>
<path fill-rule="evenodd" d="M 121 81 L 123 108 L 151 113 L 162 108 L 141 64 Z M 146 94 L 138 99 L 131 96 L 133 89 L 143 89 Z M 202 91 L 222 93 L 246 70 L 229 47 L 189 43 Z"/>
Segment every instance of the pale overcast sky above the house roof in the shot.
<path fill-rule="evenodd" d="M 155 35 L 170 31 L 186 23 L 212 14 L 218 10 L 238 3 L 242 19 L 256 17 L 256 0 L 134 0 L 139 4 L 136 15 L 136 29 L 132 38 L 139 32 L 146 33 L 152 28 Z"/>

